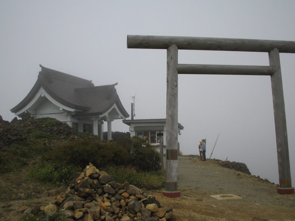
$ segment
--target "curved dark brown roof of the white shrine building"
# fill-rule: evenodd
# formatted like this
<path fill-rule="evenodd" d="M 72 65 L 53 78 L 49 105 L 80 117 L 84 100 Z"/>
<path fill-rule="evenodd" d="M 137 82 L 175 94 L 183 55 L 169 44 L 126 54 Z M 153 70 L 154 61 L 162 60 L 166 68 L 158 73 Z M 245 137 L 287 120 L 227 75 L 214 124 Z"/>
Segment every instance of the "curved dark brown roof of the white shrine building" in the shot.
<path fill-rule="evenodd" d="M 129 114 L 124 109 L 115 85 L 94 86 L 91 80 L 85 80 L 63 72 L 43 67 L 38 79 L 29 94 L 18 105 L 11 109 L 16 113 L 24 108 L 42 87 L 53 99 L 70 108 L 82 110 L 75 116 L 101 115 L 114 104 L 124 115 Z"/>

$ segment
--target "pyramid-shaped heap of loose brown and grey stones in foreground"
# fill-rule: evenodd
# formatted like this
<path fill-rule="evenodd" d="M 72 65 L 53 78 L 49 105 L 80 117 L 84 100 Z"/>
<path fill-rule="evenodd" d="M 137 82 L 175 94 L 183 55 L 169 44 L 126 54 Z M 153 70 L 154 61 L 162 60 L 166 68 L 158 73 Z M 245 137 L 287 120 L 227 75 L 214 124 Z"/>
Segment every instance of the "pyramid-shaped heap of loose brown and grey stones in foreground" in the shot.
<path fill-rule="evenodd" d="M 19 210 L 24 215 L 34 213 L 30 208 L 24 209 Z M 67 221 L 182 221 L 173 214 L 171 207 L 161 207 L 146 190 L 129 182 L 119 184 L 113 176 L 99 171 L 91 163 L 77 178 L 70 179 L 65 192 L 38 210 L 35 213 L 44 213 L 47 219 L 58 212 Z"/>

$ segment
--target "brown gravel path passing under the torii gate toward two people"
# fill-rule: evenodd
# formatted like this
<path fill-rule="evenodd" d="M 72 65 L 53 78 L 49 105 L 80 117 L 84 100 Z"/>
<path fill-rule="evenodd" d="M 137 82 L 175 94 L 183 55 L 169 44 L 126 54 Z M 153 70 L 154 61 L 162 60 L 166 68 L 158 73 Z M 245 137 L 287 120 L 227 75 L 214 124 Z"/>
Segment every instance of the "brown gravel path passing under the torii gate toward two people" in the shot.
<path fill-rule="evenodd" d="M 156 198 L 189 220 L 295 220 L 295 195 L 280 195 L 270 182 L 219 165 L 219 160 L 178 157 L 181 197 Z M 235 194 L 240 200 L 217 200 L 211 195 Z M 255 220 L 255 219 L 254 219 Z M 259 220 L 259 219 L 256 219 Z"/>

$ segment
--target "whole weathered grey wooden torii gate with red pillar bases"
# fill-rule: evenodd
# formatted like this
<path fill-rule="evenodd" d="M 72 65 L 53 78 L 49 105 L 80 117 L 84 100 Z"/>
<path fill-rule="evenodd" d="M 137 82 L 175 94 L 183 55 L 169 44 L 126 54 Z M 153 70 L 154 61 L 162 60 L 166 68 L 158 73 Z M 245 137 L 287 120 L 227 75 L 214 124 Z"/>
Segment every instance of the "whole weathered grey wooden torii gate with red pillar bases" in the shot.
<path fill-rule="evenodd" d="M 127 35 L 127 48 L 167 50 L 166 178 L 168 197 L 179 197 L 178 184 L 178 74 L 270 75 L 278 155 L 277 192 L 292 194 L 285 103 L 279 53 L 295 53 L 294 41 Z M 178 49 L 268 52 L 269 66 L 178 64 Z"/>

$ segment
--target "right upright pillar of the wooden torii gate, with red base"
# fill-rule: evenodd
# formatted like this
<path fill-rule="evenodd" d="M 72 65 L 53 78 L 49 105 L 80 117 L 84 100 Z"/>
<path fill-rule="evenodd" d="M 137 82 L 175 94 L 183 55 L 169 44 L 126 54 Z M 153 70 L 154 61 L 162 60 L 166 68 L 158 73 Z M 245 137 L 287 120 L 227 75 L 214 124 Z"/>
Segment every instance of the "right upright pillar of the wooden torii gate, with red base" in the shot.
<path fill-rule="evenodd" d="M 287 124 L 283 94 L 283 82 L 280 64 L 280 55 L 277 48 L 268 53 L 269 65 L 276 68 L 271 75 L 271 90 L 273 94 L 273 113 L 275 118 L 276 145 L 278 154 L 278 177 L 280 187 L 278 193 L 294 193 L 291 184 L 291 171 L 287 137 Z"/>

